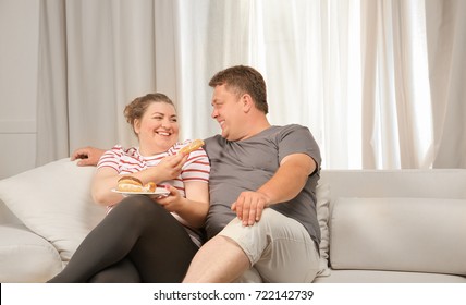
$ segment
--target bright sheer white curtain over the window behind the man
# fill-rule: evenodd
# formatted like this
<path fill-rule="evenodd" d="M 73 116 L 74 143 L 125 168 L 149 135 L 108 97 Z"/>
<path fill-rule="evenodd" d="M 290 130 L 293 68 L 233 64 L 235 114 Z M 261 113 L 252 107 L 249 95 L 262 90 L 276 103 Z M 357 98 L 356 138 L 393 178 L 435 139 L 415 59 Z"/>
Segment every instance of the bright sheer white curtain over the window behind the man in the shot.
<path fill-rule="evenodd" d="M 432 163 L 422 1 L 212 1 L 209 10 L 207 69 L 261 71 L 271 123 L 309 126 L 326 168 Z"/>

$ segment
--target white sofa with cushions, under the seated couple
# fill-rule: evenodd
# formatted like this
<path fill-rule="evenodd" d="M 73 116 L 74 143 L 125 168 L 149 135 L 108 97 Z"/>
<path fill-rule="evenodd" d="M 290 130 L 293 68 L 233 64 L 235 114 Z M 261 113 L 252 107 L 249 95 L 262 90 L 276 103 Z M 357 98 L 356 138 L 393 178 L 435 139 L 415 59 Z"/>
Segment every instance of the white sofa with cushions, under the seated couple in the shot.
<path fill-rule="evenodd" d="M 0 181 L 0 282 L 45 282 L 105 216 L 68 159 Z M 466 282 L 466 170 L 323 170 L 327 282 Z"/>

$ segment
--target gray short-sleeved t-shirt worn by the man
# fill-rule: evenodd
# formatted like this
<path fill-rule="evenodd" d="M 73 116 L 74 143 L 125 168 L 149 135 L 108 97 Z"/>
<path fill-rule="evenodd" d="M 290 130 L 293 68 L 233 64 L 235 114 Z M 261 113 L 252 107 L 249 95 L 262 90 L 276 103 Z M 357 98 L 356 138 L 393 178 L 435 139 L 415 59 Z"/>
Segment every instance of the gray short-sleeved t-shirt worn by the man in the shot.
<path fill-rule="evenodd" d="M 316 186 L 320 174 L 320 150 L 305 126 L 271 126 L 238 142 L 220 135 L 207 138 L 205 149 L 210 160 L 210 208 L 206 221 L 208 237 L 219 233 L 236 213 L 231 205 L 244 191 L 256 191 L 277 172 L 281 160 L 291 154 L 306 154 L 317 163 L 303 191 L 292 200 L 272 205 L 274 210 L 299 221 L 311 239 L 320 242 L 316 215 Z"/>

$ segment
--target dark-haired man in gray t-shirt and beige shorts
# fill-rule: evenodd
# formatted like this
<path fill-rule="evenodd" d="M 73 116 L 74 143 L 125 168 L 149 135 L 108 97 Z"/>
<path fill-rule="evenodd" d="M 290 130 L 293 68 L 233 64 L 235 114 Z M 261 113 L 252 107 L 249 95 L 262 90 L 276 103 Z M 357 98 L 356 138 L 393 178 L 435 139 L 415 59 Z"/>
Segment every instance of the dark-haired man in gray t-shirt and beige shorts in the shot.
<path fill-rule="evenodd" d="M 254 270 L 265 282 L 311 282 L 320 242 L 317 143 L 307 127 L 270 125 L 266 83 L 253 68 L 225 69 L 209 85 L 211 117 L 222 130 L 205 141 L 211 162 L 209 241 L 184 281 L 248 281 Z M 89 161 L 97 156 L 91 152 Z"/>

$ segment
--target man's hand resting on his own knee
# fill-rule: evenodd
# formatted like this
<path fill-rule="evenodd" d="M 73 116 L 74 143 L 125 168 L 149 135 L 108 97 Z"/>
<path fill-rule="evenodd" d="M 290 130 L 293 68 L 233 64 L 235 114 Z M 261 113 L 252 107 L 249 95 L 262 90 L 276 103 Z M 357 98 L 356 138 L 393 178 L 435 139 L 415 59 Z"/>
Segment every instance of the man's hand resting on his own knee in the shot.
<path fill-rule="evenodd" d="M 253 225 L 262 217 L 262 211 L 270 204 L 269 197 L 259 192 L 242 192 L 236 202 L 232 205 L 232 210 L 236 211 L 243 225 Z"/>

